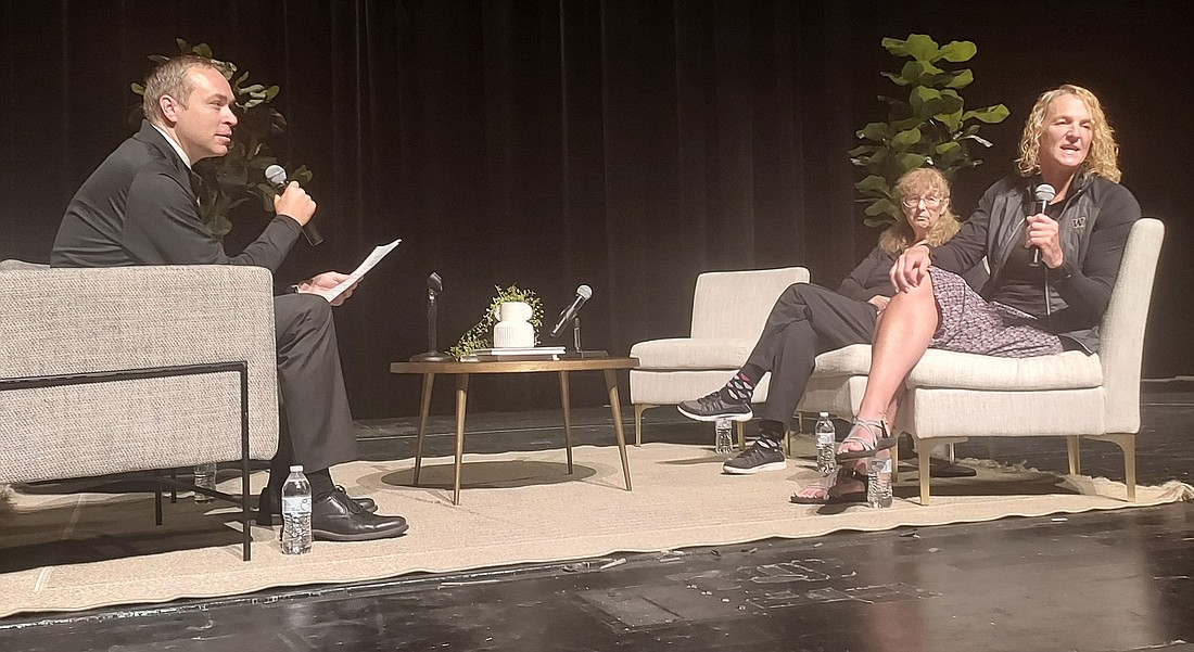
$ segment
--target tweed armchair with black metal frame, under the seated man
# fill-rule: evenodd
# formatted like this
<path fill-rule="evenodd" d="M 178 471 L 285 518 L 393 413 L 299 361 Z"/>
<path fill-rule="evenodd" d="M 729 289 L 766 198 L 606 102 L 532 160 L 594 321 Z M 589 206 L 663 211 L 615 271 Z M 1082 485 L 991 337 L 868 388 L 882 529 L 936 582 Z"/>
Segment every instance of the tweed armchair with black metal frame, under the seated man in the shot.
<path fill-rule="evenodd" d="M 248 462 L 278 441 L 270 272 L 6 260 L 0 282 L 0 482 L 238 461 L 248 560 Z"/>

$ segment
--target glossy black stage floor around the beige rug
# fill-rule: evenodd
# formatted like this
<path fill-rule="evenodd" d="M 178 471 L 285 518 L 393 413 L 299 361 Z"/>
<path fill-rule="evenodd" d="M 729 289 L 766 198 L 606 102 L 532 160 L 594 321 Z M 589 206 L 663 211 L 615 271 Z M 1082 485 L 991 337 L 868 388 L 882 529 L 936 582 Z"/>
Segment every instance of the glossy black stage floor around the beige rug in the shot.
<path fill-rule="evenodd" d="M 1144 404 L 1140 482 L 1194 482 L 1194 394 L 1150 390 Z M 608 444 L 607 414 L 577 411 L 579 443 Z M 647 416 L 648 441 L 712 441 L 670 408 Z M 466 450 L 559 447 L 558 424 L 555 412 L 470 416 Z M 430 454 L 450 454 L 451 428 L 436 420 Z M 376 460 L 410 456 L 413 435 L 411 419 L 358 430 Z M 989 453 L 1065 469 L 1060 439 L 959 445 Z M 1122 480 L 1112 444 L 1085 444 L 1083 467 Z M 1183 503 L 26 615 L 0 621 L 0 650 L 1194 652 L 1192 577 Z"/>

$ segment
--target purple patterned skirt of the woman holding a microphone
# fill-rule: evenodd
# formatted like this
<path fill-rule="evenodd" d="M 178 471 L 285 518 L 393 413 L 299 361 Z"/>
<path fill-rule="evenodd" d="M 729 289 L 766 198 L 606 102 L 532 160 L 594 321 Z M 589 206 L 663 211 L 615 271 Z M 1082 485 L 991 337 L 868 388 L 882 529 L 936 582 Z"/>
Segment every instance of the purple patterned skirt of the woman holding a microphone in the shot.
<path fill-rule="evenodd" d="M 1039 328 L 1033 315 L 1002 303 L 987 303 L 956 273 L 929 267 L 929 276 L 941 316 L 930 349 L 1007 358 L 1063 351 L 1061 340 Z"/>

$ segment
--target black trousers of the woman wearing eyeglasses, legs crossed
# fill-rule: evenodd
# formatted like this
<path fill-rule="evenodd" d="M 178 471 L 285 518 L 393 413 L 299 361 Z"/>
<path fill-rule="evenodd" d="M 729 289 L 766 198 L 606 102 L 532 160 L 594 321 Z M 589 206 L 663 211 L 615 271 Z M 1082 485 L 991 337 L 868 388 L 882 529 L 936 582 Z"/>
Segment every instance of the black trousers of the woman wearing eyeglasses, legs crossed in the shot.
<path fill-rule="evenodd" d="M 805 395 L 819 353 L 850 344 L 870 344 L 876 314 L 870 303 L 820 285 L 795 283 L 783 290 L 746 358 L 747 369 L 757 367 L 771 373 L 767 402 L 755 414 L 778 422 L 782 430 L 762 428 L 764 435 L 778 438 L 792 426 L 792 414 Z"/>

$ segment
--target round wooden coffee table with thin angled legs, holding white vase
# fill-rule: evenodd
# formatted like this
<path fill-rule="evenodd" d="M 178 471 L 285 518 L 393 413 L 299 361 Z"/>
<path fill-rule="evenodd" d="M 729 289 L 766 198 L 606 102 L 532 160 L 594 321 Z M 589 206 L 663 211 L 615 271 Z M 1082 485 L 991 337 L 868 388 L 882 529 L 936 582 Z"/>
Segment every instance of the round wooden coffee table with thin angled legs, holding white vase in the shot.
<path fill-rule="evenodd" d="M 617 436 L 617 450 L 622 455 L 622 474 L 626 476 L 626 491 L 630 491 L 630 466 L 626 459 L 626 437 L 622 433 L 622 407 L 617 396 L 617 376 L 620 369 L 633 369 L 639 365 L 638 358 L 571 358 L 519 362 L 394 362 L 389 365 L 392 374 L 423 374 L 423 405 L 419 410 L 419 439 L 414 449 L 414 485 L 419 484 L 419 469 L 423 466 L 423 436 L 427 429 L 427 412 L 431 410 L 431 390 L 436 375 L 451 374 L 456 377 L 456 479 L 453 492 L 453 504 L 460 504 L 460 472 L 464 455 L 464 410 L 468 405 L 468 377 L 473 374 L 540 374 L 555 371 L 560 376 L 560 404 L 564 407 L 564 441 L 567 447 L 568 473 L 572 473 L 572 416 L 570 412 L 568 374 L 571 371 L 602 371 L 605 375 L 605 389 L 609 392 L 609 408 L 614 417 L 614 433 Z"/>

